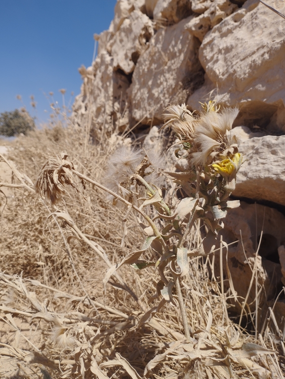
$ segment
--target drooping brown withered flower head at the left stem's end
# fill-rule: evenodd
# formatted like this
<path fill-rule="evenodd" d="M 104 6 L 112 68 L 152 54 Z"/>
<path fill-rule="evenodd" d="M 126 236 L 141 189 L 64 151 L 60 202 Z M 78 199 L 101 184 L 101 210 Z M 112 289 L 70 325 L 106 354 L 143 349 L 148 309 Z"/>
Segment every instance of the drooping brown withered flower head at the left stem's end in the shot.
<path fill-rule="evenodd" d="M 66 193 L 65 185 L 72 186 L 81 192 L 74 182 L 72 173 L 72 170 L 75 169 L 74 164 L 67 160 L 67 157 L 68 155 L 62 152 L 60 157 L 49 158 L 38 175 L 35 184 L 36 193 L 40 194 L 51 205 L 62 203 L 62 195 Z"/>

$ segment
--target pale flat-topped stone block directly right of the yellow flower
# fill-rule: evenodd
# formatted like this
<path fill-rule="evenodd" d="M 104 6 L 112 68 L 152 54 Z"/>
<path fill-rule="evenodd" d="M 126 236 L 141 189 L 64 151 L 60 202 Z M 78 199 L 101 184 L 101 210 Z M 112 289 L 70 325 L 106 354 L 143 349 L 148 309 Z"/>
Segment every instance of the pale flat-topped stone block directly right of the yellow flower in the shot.
<path fill-rule="evenodd" d="M 233 195 L 285 205 L 285 136 L 254 137 L 239 150 L 244 163 Z"/>

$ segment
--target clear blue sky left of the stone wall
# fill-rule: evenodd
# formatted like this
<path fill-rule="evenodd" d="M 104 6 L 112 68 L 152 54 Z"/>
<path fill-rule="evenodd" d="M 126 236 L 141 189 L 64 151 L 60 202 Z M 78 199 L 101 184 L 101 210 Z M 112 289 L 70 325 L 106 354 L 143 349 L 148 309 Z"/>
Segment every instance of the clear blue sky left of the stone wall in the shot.
<path fill-rule="evenodd" d="M 39 125 L 49 118 L 43 95 L 80 93 L 81 64 L 91 65 L 94 33 L 109 28 L 116 0 L 0 0 L 0 112 L 20 108 L 21 95 Z M 30 105 L 35 96 L 37 111 Z M 44 112 L 44 109 L 48 113 Z"/>

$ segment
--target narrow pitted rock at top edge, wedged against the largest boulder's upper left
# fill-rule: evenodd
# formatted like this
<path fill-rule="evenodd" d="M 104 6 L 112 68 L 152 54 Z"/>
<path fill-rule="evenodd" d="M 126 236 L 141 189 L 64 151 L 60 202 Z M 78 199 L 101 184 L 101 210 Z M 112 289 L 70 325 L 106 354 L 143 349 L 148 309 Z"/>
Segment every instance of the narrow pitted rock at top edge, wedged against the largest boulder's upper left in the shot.
<path fill-rule="evenodd" d="M 202 42 L 205 34 L 215 25 L 219 24 L 223 19 L 232 14 L 237 8 L 237 4 L 233 4 L 229 0 L 214 0 L 203 2 L 204 6 L 208 6 L 204 13 L 198 17 L 194 17 L 185 28 L 189 30 L 193 36 L 199 38 Z"/>

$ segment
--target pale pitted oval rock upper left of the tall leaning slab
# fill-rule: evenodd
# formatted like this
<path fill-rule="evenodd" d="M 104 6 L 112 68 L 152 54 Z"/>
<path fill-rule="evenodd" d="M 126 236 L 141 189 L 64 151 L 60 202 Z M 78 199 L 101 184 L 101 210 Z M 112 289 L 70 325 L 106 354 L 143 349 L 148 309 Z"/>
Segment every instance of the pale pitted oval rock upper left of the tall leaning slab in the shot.
<path fill-rule="evenodd" d="M 148 16 L 140 10 L 134 10 L 123 20 L 114 37 L 111 50 L 114 68 L 121 68 L 125 74 L 130 74 L 153 34 L 152 22 Z"/>

